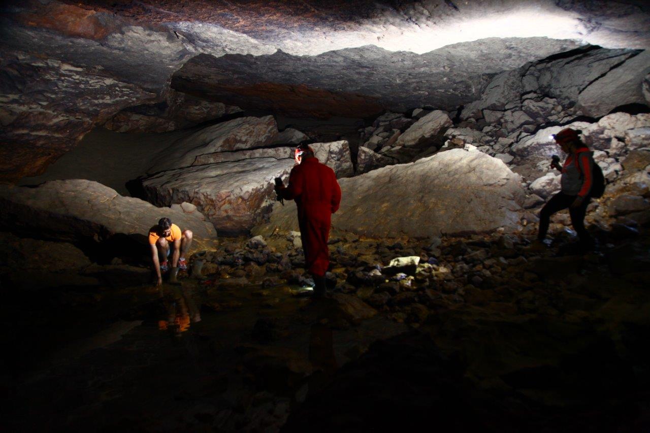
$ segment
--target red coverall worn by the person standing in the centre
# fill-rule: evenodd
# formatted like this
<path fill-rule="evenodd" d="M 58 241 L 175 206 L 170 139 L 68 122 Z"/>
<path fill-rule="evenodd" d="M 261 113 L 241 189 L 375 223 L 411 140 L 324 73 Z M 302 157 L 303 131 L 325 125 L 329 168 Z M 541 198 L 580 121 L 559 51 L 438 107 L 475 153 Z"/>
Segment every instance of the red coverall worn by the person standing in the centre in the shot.
<path fill-rule="evenodd" d="M 334 170 L 317 158 L 303 158 L 291 169 L 289 186 L 281 190 L 282 198 L 296 200 L 298 225 L 305 251 L 305 267 L 315 277 L 324 276 L 330 265 L 331 214 L 339 209 L 341 187 Z"/>

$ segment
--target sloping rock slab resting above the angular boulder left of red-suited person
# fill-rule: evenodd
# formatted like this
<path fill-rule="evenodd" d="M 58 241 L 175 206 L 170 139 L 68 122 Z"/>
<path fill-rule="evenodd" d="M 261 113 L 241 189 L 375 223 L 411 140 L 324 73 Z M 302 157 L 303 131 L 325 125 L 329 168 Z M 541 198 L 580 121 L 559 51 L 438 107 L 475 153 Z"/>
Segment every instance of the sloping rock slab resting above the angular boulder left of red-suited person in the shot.
<path fill-rule="evenodd" d="M 154 160 L 149 172 L 188 167 L 206 153 L 266 146 L 277 134 L 273 116 L 241 117 L 211 125 L 172 143 Z"/>

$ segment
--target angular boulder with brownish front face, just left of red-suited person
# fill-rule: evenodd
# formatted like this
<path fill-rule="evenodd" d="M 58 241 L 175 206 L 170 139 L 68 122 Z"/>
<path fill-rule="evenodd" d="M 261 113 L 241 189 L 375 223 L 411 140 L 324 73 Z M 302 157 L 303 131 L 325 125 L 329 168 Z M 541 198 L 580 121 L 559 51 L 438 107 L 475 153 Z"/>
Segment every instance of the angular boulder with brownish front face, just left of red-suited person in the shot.
<path fill-rule="evenodd" d="M 274 178 L 289 176 L 292 159 L 255 158 L 168 170 L 142 182 L 157 205 L 188 202 L 209 218 L 219 233 L 246 233 L 271 211 Z"/>

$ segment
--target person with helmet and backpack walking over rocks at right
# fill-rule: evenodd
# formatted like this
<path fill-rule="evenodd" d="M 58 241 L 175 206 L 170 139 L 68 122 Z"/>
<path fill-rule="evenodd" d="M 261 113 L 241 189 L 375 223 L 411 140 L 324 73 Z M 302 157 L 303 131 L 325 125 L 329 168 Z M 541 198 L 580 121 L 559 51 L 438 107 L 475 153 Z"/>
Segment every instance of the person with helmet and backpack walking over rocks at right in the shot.
<path fill-rule="evenodd" d="M 565 128 L 553 135 L 555 142 L 567 154 L 567 158 L 562 166 L 556 162 L 551 163 L 552 168 L 562 172 L 562 189 L 552 196 L 539 213 L 539 243 L 546 237 L 551 215 L 568 207 L 571 224 L 580 238 L 580 246 L 588 249 L 593 244 L 589 232 L 584 228 L 584 216 L 590 202 L 593 164 L 595 163 L 591 151 L 580 140 L 580 133 L 582 131 Z"/>

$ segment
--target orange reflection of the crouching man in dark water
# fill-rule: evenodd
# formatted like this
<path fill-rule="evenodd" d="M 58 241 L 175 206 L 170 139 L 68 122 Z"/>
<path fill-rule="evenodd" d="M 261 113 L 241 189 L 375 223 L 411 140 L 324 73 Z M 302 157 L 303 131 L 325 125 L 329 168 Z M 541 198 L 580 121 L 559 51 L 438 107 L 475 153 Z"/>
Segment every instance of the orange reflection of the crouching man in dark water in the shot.
<path fill-rule="evenodd" d="M 161 289 L 166 319 L 158 321 L 161 331 L 169 330 L 180 337 L 190 329 L 191 323 L 201 321 L 196 295 L 191 287 L 164 285 Z"/>

